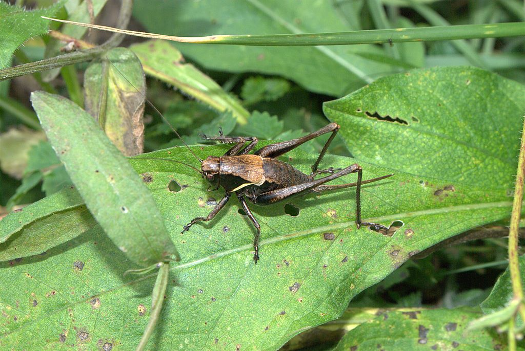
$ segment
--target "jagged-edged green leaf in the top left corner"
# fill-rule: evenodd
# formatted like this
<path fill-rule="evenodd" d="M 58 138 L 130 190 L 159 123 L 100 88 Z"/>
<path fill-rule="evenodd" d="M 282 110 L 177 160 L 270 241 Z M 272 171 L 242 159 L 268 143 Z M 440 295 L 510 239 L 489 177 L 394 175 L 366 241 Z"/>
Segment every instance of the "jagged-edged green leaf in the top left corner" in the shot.
<path fill-rule="evenodd" d="M 11 62 L 15 50 L 27 39 L 46 34 L 49 21 L 40 16 L 53 17 L 62 6 L 58 2 L 47 8 L 26 11 L 17 6 L 0 2 L 0 69 L 6 68 Z"/>

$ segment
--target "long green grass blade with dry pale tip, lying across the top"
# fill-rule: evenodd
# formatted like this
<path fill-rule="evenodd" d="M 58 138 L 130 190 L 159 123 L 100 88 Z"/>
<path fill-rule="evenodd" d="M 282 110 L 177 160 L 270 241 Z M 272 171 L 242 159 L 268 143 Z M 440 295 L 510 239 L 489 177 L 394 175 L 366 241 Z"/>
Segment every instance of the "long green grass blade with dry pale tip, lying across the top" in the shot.
<path fill-rule="evenodd" d="M 48 18 L 48 17 L 45 17 Z M 519 37 L 525 35 L 525 24 L 498 23 L 482 25 L 436 26 L 426 28 L 373 29 L 347 32 L 275 34 L 275 35 L 212 35 L 206 37 L 176 37 L 150 34 L 135 30 L 118 29 L 107 26 L 90 25 L 54 19 L 63 23 L 82 27 L 97 28 L 137 37 L 164 39 L 189 43 L 249 45 L 249 46 L 324 46 L 353 44 L 382 44 L 388 42 L 438 41 L 471 38 Z"/>

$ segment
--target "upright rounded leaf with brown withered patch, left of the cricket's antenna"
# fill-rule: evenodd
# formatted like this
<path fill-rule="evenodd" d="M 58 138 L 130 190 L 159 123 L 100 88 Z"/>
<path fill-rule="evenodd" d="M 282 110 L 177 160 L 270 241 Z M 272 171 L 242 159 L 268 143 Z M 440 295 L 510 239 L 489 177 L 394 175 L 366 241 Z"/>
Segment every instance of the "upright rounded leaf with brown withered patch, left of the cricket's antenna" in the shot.
<path fill-rule="evenodd" d="M 139 59 L 125 48 L 115 48 L 84 74 L 86 111 L 95 117 L 113 144 L 126 156 L 144 149 L 142 115 L 146 98 Z"/>

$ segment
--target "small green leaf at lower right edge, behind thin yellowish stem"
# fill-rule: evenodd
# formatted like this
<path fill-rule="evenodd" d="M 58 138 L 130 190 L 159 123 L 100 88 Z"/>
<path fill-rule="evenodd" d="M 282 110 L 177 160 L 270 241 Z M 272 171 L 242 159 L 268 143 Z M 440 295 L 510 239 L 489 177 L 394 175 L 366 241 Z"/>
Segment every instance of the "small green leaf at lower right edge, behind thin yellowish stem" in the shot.
<path fill-rule="evenodd" d="M 520 278 L 521 285 L 525 286 L 525 257 L 519 257 L 520 264 Z M 490 315 L 491 313 L 496 313 L 505 306 L 509 306 L 514 298 L 512 292 L 512 284 L 510 281 L 510 271 L 509 268 L 503 272 L 503 274 L 498 278 L 496 284 L 492 288 L 488 298 L 481 303 L 481 310 L 483 313 Z M 520 315 L 518 314 L 516 319 L 516 328 L 520 328 L 523 325 Z"/>

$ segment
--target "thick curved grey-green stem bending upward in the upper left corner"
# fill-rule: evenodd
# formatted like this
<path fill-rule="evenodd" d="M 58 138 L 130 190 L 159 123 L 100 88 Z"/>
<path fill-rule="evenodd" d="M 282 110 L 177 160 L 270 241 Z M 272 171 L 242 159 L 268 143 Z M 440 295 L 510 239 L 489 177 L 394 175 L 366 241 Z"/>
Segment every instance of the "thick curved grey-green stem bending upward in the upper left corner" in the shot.
<path fill-rule="evenodd" d="M 131 17 L 132 6 L 133 6 L 132 0 L 122 0 L 117 27 L 125 28 L 128 26 L 128 23 Z M 14 67 L 5 68 L 3 70 L 0 70 L 0 81 L 6 80 L 6 79 L 12 79 L 20 75 L 31 74 L 35 72 L 50 70 L 53 68 L 64 67 L 68 64 L 75 64 L 75 63 L 90 61 L 92 59 L 99 57 L 102 53 L 106 52 L 108 49 L 118 46 L 120 42 L 122 41 L 122 39 L 123 39 L 123 35 L 115 34 L 115 35 L 112 35 L 102 45 L 92 48 L 92 49 L 70 52 L 70 53 L 66 53 L 66 54 L 63 54 L 57 57 L 51 57 L 51 58 L 36 61 L 36 62 L 20 64 Z"/>

